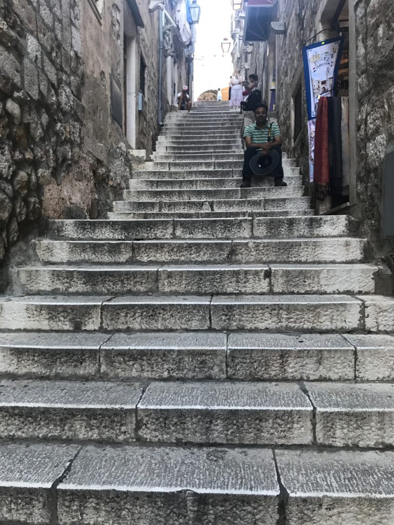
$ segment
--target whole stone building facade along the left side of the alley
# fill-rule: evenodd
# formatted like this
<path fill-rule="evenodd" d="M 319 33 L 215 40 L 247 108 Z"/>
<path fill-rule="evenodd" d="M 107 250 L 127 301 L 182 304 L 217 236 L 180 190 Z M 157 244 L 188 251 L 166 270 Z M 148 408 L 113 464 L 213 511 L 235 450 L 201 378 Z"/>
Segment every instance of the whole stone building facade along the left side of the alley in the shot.
<path fill-rule="evenodd" d="M 185 0 L 0 0 L 0 261 L 42 217 L 106 217 L 133 150 L 152 152 L 192 83 L 185 10 Z"/>

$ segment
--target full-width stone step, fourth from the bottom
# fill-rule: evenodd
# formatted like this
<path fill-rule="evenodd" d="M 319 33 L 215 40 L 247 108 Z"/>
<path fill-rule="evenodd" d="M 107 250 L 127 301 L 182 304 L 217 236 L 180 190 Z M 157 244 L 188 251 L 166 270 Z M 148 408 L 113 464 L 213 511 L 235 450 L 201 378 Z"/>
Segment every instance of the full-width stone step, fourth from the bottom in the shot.
<path fill-rule="evenodd" d="M 0 329 L 381 332 L 393 306 L 367 295 L 1 296 Z"/>

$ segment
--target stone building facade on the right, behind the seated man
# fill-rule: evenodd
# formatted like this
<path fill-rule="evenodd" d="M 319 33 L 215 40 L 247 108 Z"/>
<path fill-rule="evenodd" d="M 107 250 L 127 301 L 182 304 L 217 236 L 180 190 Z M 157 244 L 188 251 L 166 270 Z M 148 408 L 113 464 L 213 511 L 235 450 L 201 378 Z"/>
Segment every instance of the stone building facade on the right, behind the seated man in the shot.
<path fill-rule="evenodd" d="M 383 233 L 385 158 L 394 140 L 394 4 L 391 0 L 243 0 L 234 2 L 234 66 L 257 74 L 278 119 L 284 150 L 308 177 L 309 141 L 303 47 L 342 35 L 336 95 L 349 104 L 349 191 L 341 206 L 316 200 L 317 213 L 349 213 L 370 240 L 371 257 L 394 266 Z M 387 170 L 386 170 L 387 172 Z M 392 174 L 391 174 L 392 176 Z M 313 183 L 309 185 L 313 195 Z M 339 208 L 339 209 L 338 209 Z M 387 208 L 387 207 L 386 207 Z"/>

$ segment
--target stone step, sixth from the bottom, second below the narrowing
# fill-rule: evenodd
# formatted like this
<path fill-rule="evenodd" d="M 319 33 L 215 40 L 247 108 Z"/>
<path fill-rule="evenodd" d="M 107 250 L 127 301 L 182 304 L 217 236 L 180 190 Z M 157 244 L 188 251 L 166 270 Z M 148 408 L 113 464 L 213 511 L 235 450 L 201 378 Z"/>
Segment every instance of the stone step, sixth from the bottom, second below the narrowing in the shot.
<path fill-rule="evenodd" d="M 68 241 L 38 240 L 34 243 L 43 262 L 360 262 L 366 239 L 301 238 L 240 240 L 146 240 Z"/>

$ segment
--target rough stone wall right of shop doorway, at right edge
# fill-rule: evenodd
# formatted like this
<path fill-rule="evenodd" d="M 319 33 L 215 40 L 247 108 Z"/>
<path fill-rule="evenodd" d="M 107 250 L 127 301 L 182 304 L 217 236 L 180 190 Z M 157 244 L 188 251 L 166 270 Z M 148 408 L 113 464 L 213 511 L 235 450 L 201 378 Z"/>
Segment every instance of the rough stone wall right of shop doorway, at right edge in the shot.
<path fill-rule="evenodd" d="M 394 4 L 358 0 L 356 56 L 358 87 L 357 202 L 364 235 L 394 270 L 394 241 L 381 236 L 382 169 L 394 141 Z"/>

